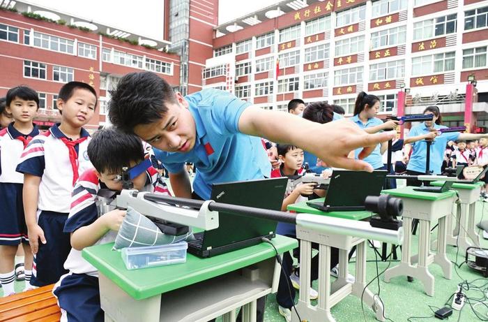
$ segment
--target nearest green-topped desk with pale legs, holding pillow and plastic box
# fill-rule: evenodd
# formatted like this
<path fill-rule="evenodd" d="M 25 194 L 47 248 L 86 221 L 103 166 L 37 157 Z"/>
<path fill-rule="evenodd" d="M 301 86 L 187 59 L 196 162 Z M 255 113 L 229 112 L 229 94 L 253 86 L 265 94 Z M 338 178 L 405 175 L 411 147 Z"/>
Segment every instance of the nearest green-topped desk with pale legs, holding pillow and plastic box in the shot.
<path fill-rule="evenodd" d="M 298 247 L 280 235 L 272 242 L 280 254 Z M 280 265 L 267 243 L 211 258 L 188 254 L 186 263 L 140 270 L 127 270 L 112 246 L 82 252 L 99 271 L 105 321 L 234 321 L 241 306 L 243 321 L 255 321 L 257 298 L 277 291 Z"/>

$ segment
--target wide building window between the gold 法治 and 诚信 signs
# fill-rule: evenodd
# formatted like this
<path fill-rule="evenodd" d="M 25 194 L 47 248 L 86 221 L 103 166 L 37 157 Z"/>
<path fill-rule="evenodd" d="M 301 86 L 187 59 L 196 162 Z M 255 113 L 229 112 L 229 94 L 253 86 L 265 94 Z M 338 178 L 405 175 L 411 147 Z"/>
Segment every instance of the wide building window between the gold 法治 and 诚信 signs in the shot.
<path fill-rule="evenodd" d="M 412 59 L 412 76 L 454 71 L 455 52 L 444 52 Z"/>

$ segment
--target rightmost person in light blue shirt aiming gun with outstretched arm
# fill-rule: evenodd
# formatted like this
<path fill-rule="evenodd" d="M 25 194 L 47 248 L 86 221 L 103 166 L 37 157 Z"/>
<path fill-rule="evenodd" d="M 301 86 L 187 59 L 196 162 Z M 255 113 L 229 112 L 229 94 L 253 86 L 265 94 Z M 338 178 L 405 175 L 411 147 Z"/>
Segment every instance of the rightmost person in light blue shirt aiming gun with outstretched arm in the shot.
<path fill-rule="evenodd" d="M 430 160 L 429 170 L 434 175 L 441 173 L 441 166 L 445 151 L 445 146 L 449 141 L 456 140 L 479 140 L 480 138 L 488 138 L 488 134 L 472 134 L 472 133 L 441 133 L 439 129 L 447 129 L 447 126 L 441 125 L 442 116 L 437 106 L 428 106 L 424 110 L 425 115 L 434 115 L 432 121 L 425 121 L 413 128 L 409 132 L 409 138 L 415 139 L 415 142 L 409 142 L 406 145 L 405 155 L 409 158 L 409 165 L 406 167 L 408 175 L 425 175 L 425 166 L 427 163 L 427 142 L 424 139 L 416 140 L 421 136 L 427 136 L 435 133 L 430 146 Z M 432 134 L 431 134 L 432 135 Z M 422 182 L 419 180 L 407 180 L 409 186 L 420 186 Z"/>

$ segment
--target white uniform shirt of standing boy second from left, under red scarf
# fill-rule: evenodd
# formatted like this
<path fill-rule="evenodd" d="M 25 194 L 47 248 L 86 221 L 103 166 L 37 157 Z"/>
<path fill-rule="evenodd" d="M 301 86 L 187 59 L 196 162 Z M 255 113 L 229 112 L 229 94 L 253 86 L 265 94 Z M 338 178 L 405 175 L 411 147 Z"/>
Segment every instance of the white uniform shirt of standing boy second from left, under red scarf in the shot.
<path fill-rule="evenodd" d="M 49 131 L 31 140 L 22 153 L 17 171 L 41 177 L 38 210 L 67 214 L 70 212 L 71 193 L 73 192 L 73 168 L 68 147 L 61 140 L 61 137 L 66 136 L 58 126 L 55 124 Z M 75 149 L 77 148 L 78 175 L 93 168 L 86 151 L 90 135 L 85 129 L 82 129 L 80 136 L 87 139 L 75 147 Z"/>

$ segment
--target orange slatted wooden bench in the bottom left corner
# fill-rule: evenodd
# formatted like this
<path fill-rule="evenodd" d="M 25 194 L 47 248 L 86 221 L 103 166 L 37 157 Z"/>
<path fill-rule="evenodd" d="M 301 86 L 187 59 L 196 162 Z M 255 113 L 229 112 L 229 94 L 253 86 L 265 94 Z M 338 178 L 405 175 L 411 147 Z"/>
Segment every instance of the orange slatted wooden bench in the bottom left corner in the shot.
<path fill-rule="evenodd" d="M 47 285 L 6 298 L 0 298 L 0 321 L 8 322 L 58 322 L 61 311 L 52 287 Z"/>

